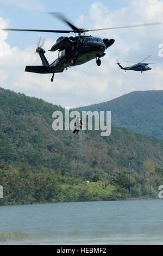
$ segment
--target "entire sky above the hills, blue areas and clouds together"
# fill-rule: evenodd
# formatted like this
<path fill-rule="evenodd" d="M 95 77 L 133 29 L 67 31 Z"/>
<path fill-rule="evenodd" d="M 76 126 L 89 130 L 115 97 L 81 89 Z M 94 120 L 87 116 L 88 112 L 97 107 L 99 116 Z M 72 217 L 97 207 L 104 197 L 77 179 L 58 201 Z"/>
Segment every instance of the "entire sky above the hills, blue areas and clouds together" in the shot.
<path fill-rule="evenodd" d="M 140 23 L 163 23 L 163 0 L 115 1 L 52 1 L 52 0 L 0 0 L 0 27 L 29 29 L 69 29 L 48 12 L 64 13 L 77 27 L 105 28 Z M 45 37 L 46 57 L 49 62 L 57 52 L 48 52 L 63 34 L 37 32 L 4 32 L 0 29 L 0 87 L 29 96 L 39 97 L 61 106 L 86 106 L 114 99 L 134 90 L 163 89 L 163 57 L 159 57 L 159 44 L 163 44 L 162 26 L 112 29 L 94 32 L 102 38 L 114 38 L 115 43 L 102 58 L 51 75 L 24 72 L 26 65 L 41 65 L 34 57 L 37 40 Z M 66 34 L 67 36 L 67 34 Z M 118 70 L 117 59 L 140 62 L 152 55 L 152 70 L 126 72 Z"/>

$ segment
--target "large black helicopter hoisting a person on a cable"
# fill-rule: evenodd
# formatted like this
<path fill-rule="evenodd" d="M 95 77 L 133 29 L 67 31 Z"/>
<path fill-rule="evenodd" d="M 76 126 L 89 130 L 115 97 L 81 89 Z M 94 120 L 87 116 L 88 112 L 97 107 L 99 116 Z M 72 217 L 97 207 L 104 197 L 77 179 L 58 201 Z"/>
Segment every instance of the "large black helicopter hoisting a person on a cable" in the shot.
<path fill-rule="evenodd" d="M 77 33 L 77 36 L 60 36 L 56 43 L 52 46 L 51 52 L 59 51 L 58 58 L 54 60 L 52 64 L 48 63 L 45 57 L 45 50 L 42 48 L 42 44 L 37 45 L 36 53 L 39 53 L 42 66 L 26 66 L 25 71 L 34 72 L 39 74 L 52 73 L 53 76 L 51 81 L 53 82 L 54 74 L 63 72 L 70 66 L 76 66 L 84 64 L 91 59 L 96 59 L 98 66 L 101 65 L 101 59 L 105 56 L 105 50 L 114 44 L 114 39 L 101 39 L 97 36 L 85 35 L 86 32 L 90 31 L 101 31 L 106 29 L 114 28 L 128 28 L 128 27 L 141 27 L 141 26 L 153 26 L 160 25 L 160 22 L 148 23 L 142 25 L 131 25 L 114 28 L 102 28 L 102 29 L 83 29 L 74 26 L 67 18 L 61 13 L 49 13 L 55 17 L 58 17 L 61 21 L 64 21 L 72 30 L 40 30 L 40 29 L 12 29 L 5 28 L 5 31 L 34 31 L 34 32 L 52 32 L 52 33 Z M 83 35 L 82 35 L 83 34 Z"/>

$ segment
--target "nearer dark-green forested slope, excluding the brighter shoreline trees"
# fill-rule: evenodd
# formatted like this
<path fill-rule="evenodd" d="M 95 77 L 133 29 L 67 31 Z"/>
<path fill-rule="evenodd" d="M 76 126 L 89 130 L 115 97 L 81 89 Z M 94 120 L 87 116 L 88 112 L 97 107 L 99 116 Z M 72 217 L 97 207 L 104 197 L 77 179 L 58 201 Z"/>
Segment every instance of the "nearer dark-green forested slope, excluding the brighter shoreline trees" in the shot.
<path fill-rule="evenodd" d="M 51 169 L 70 176 L 105 175 L 115 170 L 139 170 L 145 159 L 163 166 L 163 141 L 112 126 L 109 137 L 98 131 L 54 131 L 52 114 L 64 109 L 34 97 L 0 91 L 0 158 L 34 172 Z"/>

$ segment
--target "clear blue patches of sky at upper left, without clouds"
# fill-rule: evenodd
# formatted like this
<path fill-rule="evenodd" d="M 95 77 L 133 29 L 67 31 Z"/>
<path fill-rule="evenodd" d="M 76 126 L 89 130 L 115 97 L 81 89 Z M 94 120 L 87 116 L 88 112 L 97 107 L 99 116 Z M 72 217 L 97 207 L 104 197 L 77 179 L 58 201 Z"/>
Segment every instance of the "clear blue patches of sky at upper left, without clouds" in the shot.
<path fill-rule="evenodd" d="M 24 4 L 22 4 L 22 2 Z M 26 4 L 34 3 L 32 4 Z M 103 4 L 110 10 L 116 8 L 126 7 L 128 1 L 115 0 L 115 1 L 102 1 Z M 48 12 L 59 11 L 65 13 L 67 17 L 73 23 L 76 23 L 80 15 L 87 15 L 91 4 L 95 3 L 95 0 L 83 0 L 83 1 L 54 1 L 54 0 L 35 0 L 35 1 L 14 1 L 14 0 L 0 0 L 1 13 L 0 15 L 4 19 L 9 20 L 10 28 L 29 28 L 29 29 L 69 29 L 61 21 L 54 19 L 48 15 Z M 7 42 L 12 46 L 18 46 L 21 49 L 29 44 L 36 44 L 37 38 L 45 36 L 51 37 L 49 33 L 28 33 L 28 32 L 10 32 Z M 55 37 L 56 35 L 54 35 Z M 59 34 L 58 34 L 59 36 Z"/>

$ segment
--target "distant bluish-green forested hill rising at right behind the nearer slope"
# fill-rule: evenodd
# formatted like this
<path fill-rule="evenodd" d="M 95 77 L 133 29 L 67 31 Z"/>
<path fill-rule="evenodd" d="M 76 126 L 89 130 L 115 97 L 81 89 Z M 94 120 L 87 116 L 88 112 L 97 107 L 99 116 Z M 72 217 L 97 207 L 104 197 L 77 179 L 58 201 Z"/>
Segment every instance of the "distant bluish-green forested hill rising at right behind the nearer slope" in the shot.
<path fill-rule="evenodd" d="M 163 90 L 132 92 L 114 100 L 78 109 L 111 111 L 111 122 L 115 126 L 163 139 Z"/>

